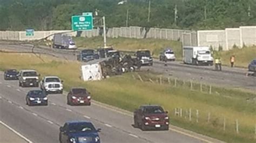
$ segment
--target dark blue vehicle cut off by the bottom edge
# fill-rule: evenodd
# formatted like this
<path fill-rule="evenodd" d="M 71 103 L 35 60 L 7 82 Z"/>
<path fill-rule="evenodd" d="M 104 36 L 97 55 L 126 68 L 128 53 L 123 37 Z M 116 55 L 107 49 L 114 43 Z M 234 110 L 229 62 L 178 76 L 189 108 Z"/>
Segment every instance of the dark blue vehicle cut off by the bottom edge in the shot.
<path fill-rule="evenodd" d="M 96 130 L 90 121 L 68 121 L 59 127 L 59 142 L 99 143 L 100 130 Z"/>

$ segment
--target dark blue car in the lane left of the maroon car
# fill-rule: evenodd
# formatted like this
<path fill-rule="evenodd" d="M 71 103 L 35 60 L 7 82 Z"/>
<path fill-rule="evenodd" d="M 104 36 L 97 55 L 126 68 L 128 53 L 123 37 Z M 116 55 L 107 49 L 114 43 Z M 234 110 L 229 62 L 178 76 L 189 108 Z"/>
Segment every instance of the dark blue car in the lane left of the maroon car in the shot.
<path fill-rule="evenodd" d="M 31 105 L 48 105 L 48 98 L 43 90 L 31 90 L 26 95 L 26 104 Z"/>

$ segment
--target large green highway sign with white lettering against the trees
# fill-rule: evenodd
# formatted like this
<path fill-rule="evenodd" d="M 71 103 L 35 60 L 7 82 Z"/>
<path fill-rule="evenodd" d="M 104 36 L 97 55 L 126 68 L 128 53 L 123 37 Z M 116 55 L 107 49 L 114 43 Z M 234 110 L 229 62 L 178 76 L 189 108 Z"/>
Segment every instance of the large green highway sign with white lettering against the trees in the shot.
<path fill-rule="evenodd" d="M 83 12 L 82 16 L 72 16 L 73 31 L 89 31 L 93 29 L 92 12 Z"/>

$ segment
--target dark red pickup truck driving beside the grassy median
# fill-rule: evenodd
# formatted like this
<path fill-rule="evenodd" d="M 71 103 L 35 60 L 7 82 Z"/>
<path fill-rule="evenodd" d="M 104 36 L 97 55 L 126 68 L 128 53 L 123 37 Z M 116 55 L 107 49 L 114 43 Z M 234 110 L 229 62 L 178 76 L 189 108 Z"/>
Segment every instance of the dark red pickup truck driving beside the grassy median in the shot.
<path fill-rule="evenodd" d="M 167 111 L 159 105 L 142 105 L 133 113 L 134 127 L 145 130 L 169 130 Z"/>

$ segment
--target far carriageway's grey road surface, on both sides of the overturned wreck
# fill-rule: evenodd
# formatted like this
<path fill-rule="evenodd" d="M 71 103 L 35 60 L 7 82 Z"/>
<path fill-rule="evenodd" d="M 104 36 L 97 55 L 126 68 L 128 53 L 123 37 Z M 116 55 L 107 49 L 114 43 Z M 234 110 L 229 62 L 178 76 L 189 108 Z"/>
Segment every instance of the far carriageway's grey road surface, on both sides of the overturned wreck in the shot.
<path fill-rule="evenodd" d="M 77 51 L 50 49 L 45 46 L 32 48 L 31 45 L 11 45 L 0 44 L 0 49 L 17 52 L 44 53 L 66 60 L 76 60 Z M 166 77 L 179 78 L 181 80 L 192 80 L 193 82 L 203 82 L 206 84 L 215 84 L 229 88 L 243 88 L 255 91 L 256 77 L 246 76 L 247 69 L 223 67 L 223 71 L 214 71 L 213 66 L 191 66 L 180 62 L 168 62 L 164 67 L 164 62 L 154 60 L 152 67 L 143 67 L 143 70 L 151 70 L 165 75 Z"/>

